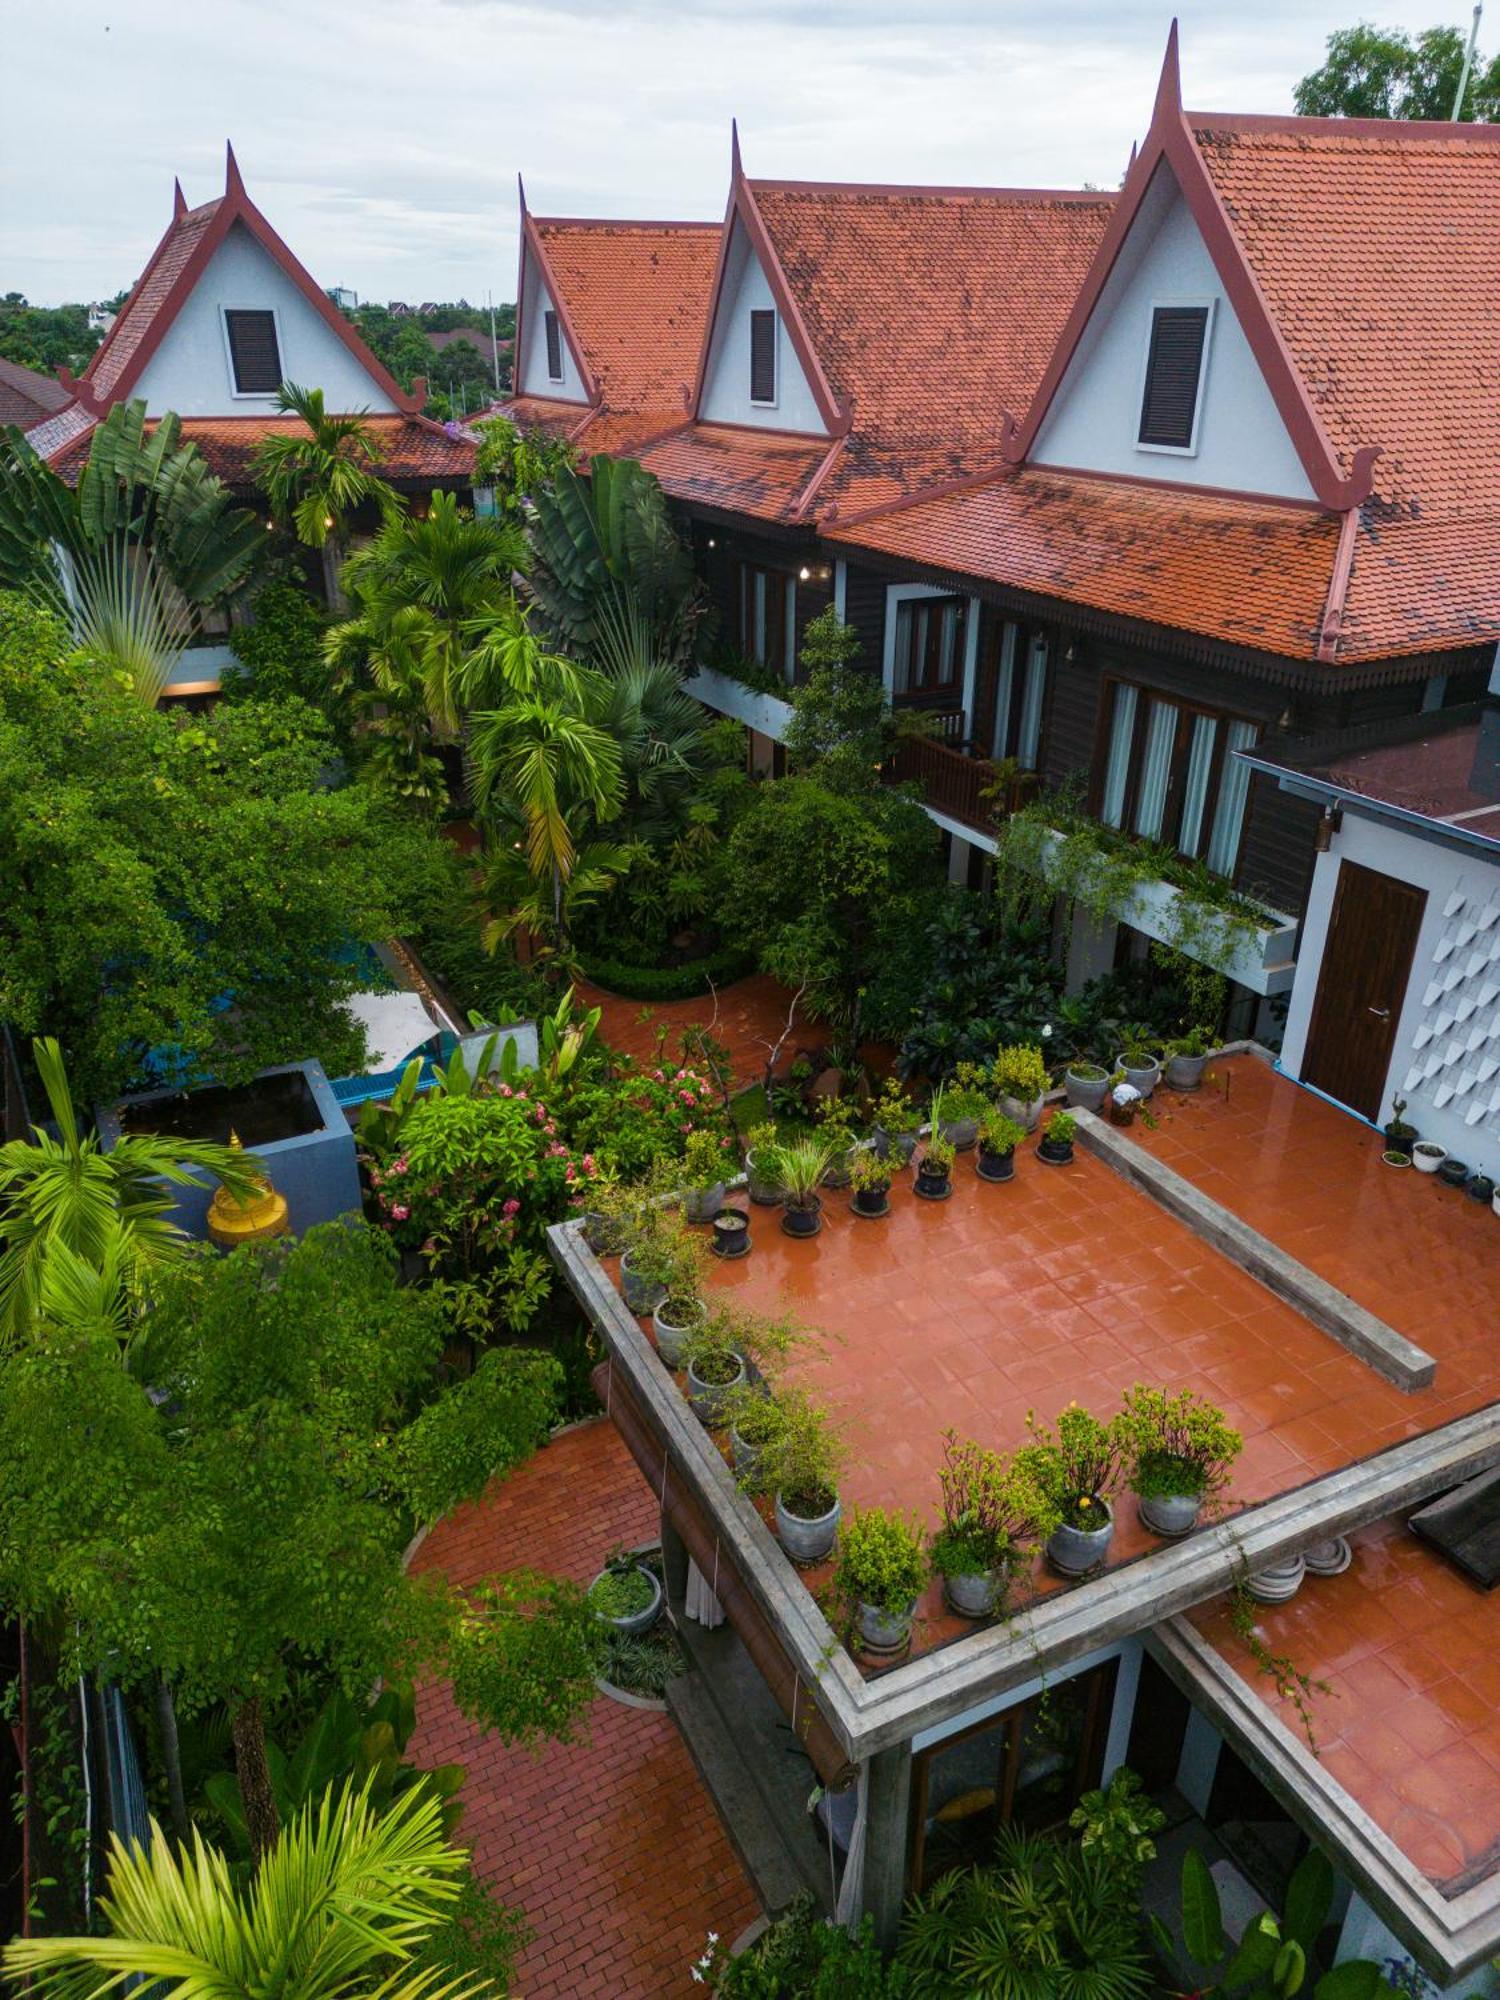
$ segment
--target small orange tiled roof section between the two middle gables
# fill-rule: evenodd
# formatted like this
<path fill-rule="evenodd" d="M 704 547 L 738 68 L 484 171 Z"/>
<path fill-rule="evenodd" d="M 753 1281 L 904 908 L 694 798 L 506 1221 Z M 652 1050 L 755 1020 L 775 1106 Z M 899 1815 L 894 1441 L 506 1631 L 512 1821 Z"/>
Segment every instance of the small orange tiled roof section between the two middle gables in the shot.
<path fill-rule="evenodd" d="M 532 226 L 606 408 L 680 416 L 698 372 L 718 224 Z"/>

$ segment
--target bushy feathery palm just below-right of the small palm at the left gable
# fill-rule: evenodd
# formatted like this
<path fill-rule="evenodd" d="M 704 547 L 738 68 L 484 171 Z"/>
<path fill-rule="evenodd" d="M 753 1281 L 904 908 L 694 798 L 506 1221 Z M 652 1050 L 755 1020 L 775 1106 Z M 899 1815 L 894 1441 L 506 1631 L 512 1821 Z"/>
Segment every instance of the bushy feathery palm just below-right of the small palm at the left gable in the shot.
<path fill-rule="evenodd" d="M 508 610 L 524 562 L 518 526 L 476 520 L 452 494 L 434 494 L 424 520 L 388 520 L 350 558 L 344 588 L 358 616 L 326 636 L 330 666 L 344 678 L 368 672 L 382 696 L 420 682 L 434 730 L 456 736 L 472 640 Z"/>

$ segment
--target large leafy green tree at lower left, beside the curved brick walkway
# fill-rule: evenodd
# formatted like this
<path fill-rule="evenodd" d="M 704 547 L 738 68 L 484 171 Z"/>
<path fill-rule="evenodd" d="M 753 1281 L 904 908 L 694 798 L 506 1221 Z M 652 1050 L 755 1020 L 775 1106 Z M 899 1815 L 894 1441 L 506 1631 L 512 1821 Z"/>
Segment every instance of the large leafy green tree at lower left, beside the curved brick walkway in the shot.
<path fill-rule="evenodd" d="M 518 1348 L 434 1400 L 444 1342 L 384 1238 L 326 1224 L 166 1276 L 128 1368 L 46 1324 L 0 1358 L 0 1600 L 78 1670 L 224 1702 L 258 1856 L 278 1832 L 266 1722 L 294 1674 L 364 1692 L 462 1634 L 466 1664 L 486 1644 L 522 1662 L 476 1696 L 498 1686 L 482 1720 L 510 1740 L 592 1698 L 592 1674 L 524 1670 L 558 1664 L 558 1630 L 596 1636 L 582 1592 L 472 1608 L 402 1566 L 414 1522 L 534 1450 L 556 1404 L 558 1364 Z M 482 1422 L 454 1418 L 470 1402 Z"/>

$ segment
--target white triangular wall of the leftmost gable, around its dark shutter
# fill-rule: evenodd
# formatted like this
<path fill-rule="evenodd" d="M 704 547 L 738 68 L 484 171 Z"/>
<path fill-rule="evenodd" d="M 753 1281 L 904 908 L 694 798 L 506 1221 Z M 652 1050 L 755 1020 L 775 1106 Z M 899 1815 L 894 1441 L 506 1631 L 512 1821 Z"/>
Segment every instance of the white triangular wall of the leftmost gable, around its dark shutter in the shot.
<path fill-rule="evenodd" d="M 236 222 L 162 334 L 134 394 L 148 416 L 270 416 L 274 392 L 242 396 L 234 388 L 226 312 L 270 312 L 282 382 L 320 388 L 330 412 L 396 410 L 390 394 L 338 338 L 276 258 Z"/>

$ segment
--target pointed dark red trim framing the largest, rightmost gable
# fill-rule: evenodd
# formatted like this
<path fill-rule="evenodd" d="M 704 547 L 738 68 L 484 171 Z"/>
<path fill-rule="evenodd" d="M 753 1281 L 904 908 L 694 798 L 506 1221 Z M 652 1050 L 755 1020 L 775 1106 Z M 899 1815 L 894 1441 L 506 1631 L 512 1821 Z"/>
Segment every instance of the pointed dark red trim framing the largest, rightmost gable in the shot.
<path fill-rule="evenodd" d="M 1214 188 L 1194 142 L 1192 128 L 1182 112 L 1176 22 L 1172 22 L 1172 32 L 1166 44 L 1166 60 L 1162 64 L 1162 80 L 1156 92 L 1150 132 L 1146 134 L 1146 142 L 1126 176 L 1110 228 L 1100 244 L 1078 302 L 1068 316 L 1056 354 L 1052 356 L 1046 376 L 1032 398 L 1030 410 L 1020 424 L 1008 418 L 1004 444 L 1006 458 L 1012 462 L 1024 462 L 1032 456 L 1036 440 L 1042 434 L 1042 426 L 1046 424 L 1064 378 L 1068 376 L 1070 362 L 1088 334 L 1094 310 L 1104 300 L 1106 286 L 1110 284 L 1110 276 L 1126 246 L 1126 238 L 1130 236 L 1132 226 L 1142 214 L 1148 198 L 1160 200 L 1162 182 L 1158 178 L 1158 170 L 1162 166 L 1166 166 L 1174 178 L 1176 190 L 1196 224 L 1198 236 L 1202 238 L 1202 244 L 1212 260 L 1214 272 L 1224 288 L 1224 296 L 1234 310 L 1238 328 L 1244 334 L 1264 386 L 1276 406 L 1276 412 L 1280 414 L 1286 436 L 1306 474 L 1314 498 L 1322 506 L 1338 512 L 1358 506 L 1370 494 L 1372 466 L 1378 456 L 1378 446 L 1362 446 L 1354 454 L 1348 474 L 1338 462 L 1338 454 L 1308 396 L 1306 382 L 1302 380 L 1302 374 L 1282 340 L 1266 296 L 1246 262 L 1244 250 L 1234 234 L 1234 224 L 1224 210 L 1218 190 Z M 1156 188 L 1154 196 L 1152 188 Z M 1182 484 L 1192 484 L 1190 476 L 1184 478 Z"/>

